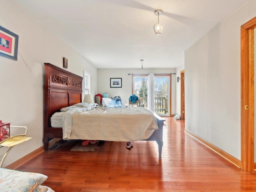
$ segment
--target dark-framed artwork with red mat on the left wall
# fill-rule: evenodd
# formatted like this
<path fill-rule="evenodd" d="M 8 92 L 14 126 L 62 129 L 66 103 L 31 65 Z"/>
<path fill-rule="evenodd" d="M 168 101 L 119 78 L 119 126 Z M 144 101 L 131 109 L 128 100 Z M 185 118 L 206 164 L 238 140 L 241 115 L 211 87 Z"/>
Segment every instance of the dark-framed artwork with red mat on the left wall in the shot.
<path fill-rule="evenodd" d="M 0 55 L 17 60 L 19 36 L 0 26 Z"/>

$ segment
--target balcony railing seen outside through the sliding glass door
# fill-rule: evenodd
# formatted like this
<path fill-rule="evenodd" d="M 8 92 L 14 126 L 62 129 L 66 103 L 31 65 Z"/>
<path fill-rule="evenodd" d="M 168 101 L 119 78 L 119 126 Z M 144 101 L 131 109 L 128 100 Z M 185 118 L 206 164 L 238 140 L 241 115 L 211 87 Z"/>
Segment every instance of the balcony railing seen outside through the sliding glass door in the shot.
<path fill-rule="evenodd" d="M 140 97 L 140 104 L 143 104 L 145 108 L 148 107 L 148 98 Z M 154 108 L 156 114 L 168 113 L 168 98 L 167 97 L 154 97 Z"/>

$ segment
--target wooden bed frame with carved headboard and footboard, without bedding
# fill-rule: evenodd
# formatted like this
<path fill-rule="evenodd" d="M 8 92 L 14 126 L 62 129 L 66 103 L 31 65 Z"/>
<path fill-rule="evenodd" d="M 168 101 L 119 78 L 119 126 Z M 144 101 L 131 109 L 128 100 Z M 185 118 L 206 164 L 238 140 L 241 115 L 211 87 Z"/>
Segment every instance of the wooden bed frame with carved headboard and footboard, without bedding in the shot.
<path fill-rule="evenodd" d="M 44 63 L 44 150 L 48 150 L 48 142 L 53 138 L 62 138 L 62 128 L 52 127 L 50 117 L 61 108 L 82 102 L 83 78 L 50 63 Z M 162 155 L 164 119 L 154 114 L 158 122 L 155 130 L 146 141 L 156 141 L 159 158 Z"/>

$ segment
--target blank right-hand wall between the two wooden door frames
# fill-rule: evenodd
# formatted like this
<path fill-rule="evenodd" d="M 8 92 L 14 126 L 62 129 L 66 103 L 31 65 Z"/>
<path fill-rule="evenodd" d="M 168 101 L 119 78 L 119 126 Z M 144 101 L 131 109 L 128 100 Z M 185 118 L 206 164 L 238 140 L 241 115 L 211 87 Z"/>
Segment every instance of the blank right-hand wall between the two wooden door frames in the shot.
<path fill-rule="evenodd" d="M 185 51 L 186 129 L 240 160 L 240 26 L 250 0 Z"/>

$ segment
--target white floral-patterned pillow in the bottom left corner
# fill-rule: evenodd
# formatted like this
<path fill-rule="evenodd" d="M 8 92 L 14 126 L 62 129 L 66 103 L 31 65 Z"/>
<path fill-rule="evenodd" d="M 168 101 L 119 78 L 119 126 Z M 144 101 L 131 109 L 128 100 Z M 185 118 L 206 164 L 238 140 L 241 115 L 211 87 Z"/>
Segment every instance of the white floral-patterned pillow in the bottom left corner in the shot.
<path fill-rule="evenodd" d="M 4 192 L 44 192 L 44 188 L 39 191 L 37 187 L 46 179 L 47 176 L 40 173 L 0 168 L 0 189 Z"/>

